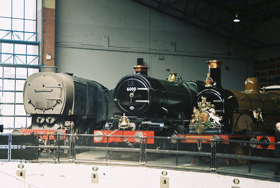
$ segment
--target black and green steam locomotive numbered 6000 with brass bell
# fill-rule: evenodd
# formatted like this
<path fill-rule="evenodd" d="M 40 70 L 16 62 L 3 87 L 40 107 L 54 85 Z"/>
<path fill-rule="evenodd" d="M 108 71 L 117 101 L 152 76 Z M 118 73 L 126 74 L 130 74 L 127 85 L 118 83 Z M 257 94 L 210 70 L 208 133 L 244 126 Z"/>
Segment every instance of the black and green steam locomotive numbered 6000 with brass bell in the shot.
<path fill-rule="evenodd" d="M 197 94 L 204 88 L 201 81 L 182 81 L 170 73 L 165 80 L 151 78 L 148 67 L 136 65 L 135 74 L 129 74 L 117 83 L 114 101 L 123 113 L 111 118 L 97 135 L 172 136 L 188 129 L 191 107 Z M 123 115 L 123 116 L 122 116 Z M 96 140 L 98 139 L 98 140 Z M 97 142 L 107 142 L 96 137 Z M 113 142 L 116 140 L 110 140 Z M 135 142 L 131 138 L 130 142 Z M 152 140 L 151 140 L 152 143 Z"/>

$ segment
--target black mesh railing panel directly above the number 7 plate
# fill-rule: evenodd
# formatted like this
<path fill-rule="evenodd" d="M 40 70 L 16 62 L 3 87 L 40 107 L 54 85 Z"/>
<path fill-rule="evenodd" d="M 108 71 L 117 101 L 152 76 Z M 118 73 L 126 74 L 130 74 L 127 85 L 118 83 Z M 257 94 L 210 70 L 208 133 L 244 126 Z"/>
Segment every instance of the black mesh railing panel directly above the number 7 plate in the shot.
<path fill-rule="evenodd" d="M 75 135 L 75 161 L 110 161 L 141 163 L 142 144 L 130 143 L 130 136 L 107 136 L 100 143 L 98 138 L 103 136 Z M 115 139 L 120 142 L 114 142 Z"/>

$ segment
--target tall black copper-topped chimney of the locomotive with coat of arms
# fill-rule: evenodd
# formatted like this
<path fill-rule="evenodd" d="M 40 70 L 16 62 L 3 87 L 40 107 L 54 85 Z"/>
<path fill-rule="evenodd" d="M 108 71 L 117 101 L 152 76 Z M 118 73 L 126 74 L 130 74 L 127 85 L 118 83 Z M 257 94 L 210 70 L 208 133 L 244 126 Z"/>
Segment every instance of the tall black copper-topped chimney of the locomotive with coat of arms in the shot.
<path fill-rule="evenodd" d="M 213 79 L 213 86 L 216 88 L 222 88 L 221 85 L 221 66 L 222 66 L 222 61 L 207 61 L 209 65 L 209 74 L 210 77 Z"/>

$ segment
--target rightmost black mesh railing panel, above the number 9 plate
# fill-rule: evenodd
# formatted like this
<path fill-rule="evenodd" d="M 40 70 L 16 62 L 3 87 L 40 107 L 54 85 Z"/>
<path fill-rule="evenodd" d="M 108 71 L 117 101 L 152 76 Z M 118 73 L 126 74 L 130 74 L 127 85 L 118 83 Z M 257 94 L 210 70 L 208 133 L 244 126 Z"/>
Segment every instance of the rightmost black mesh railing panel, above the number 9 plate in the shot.
<path fill-rule="evenodd" d="M 269 146 L 278 144 L 270 143 Z M 273 149 L 260 147 L 261 145 L 268 146 L 267 143 L 240 140 L 215 142 L 217 172 L 275 178 L 275 165 L 280 164 L 280 159 L 274 156 Z"/>

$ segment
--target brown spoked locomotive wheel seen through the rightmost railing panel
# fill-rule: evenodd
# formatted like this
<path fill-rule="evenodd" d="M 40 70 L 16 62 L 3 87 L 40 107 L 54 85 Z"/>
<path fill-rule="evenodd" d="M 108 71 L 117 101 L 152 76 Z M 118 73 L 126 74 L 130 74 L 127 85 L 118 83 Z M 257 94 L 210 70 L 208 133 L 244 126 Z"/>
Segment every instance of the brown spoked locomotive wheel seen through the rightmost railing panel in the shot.
<path fill-rule="evenodd" d="M 250 144 L 245 143 L 236 143 L 233 145 L 233 154 L 234 155 L 242 155 L 242 156 L 251 156 L 252 148 Z M 247 164 L 247 159 L 235 159 L 237 165 L 244 165 Z"/>

